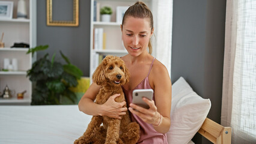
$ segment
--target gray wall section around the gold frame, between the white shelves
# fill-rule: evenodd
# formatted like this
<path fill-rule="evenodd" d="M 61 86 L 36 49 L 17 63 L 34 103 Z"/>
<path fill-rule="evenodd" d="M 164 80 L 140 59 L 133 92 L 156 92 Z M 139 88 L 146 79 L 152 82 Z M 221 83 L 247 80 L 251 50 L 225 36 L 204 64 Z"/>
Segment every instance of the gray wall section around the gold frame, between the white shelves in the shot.
<path fill-rule="evenodd" d="M 37 59 L 43 57 L 46 52 L 50 54 L 50 58 L 52 58 L 53 53 L 56 53 L 56 61 L 64 63 L 61 55 L 59 55 L 59 50 L 61 50 L 72 64 L 83 71 L 84 76 L 89 76 L 90 5 L 91 1 L 79 1 L 79 26 L 47 26 L 46 0 L 37 1 L 37 46 L 49 44 L 47 50 L 37 53 Z M 63 11 L 66 9 L 64 6 L 64 4 L 54 5 L 53 3 L 53 20 L 72 19 L 72 15 L 70 15 L 72 13 Z M 61 18 L 58 19 L 58 17 L 54 18 L 54 11 L 63 11 L 64 13 L 59 15 Z M 67 12 L 70 12 L 70 9 Z M 65 19 L 64 16 L 67 16 L 68 19 Z"/>

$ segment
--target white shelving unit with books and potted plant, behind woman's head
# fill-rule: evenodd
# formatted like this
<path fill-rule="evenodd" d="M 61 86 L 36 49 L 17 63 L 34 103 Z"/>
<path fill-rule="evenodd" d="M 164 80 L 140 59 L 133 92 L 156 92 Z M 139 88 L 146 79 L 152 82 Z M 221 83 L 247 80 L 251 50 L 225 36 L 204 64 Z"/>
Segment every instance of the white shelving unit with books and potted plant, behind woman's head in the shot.
<path fill-rule="evenodd" d="M 111 22 L 95 22 L 94 17 L 94 1 L 100 3 L 100 7 L 108 6 L 112 8 L 113 13 L 111 14 Z M 99 64 L 99 55 L 116 55 L 124 56 L 127 54 L 126 49 L 123 46 L 121 40 L 121 28 L 120 24 L 116 21 L 117 7 L 118 6 L 130 6 L 135 4 L 137 0 L 91 0 L 91 41 L 90 41 L 90 77 L 93 76 L 94 70 Z M 153 12 L 153 1 L 144 0 L 145 4 L 150 7 Z M 94 49 L 94 29 L 103 28 L 103 32 L 106 34 L 106 49 L 95 50 Z M 92 82 L 92 81 L 91 81 Z"/>

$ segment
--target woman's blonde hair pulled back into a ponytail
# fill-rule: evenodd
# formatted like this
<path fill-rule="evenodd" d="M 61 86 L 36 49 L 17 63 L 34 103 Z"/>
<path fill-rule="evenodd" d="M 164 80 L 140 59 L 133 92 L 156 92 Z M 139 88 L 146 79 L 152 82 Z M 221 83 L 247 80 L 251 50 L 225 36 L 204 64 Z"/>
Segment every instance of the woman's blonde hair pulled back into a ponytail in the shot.
<path fill-rule="evenodd" d="M 154 28 L 153 27 L 153 14 L 151 13 L 150 9 L 144 2 L 137 1 L 134 5 L 130 6 L 126 10 L 126 12 L 124 13 L 123 21 L 122 21 L 122 28 L 123 28 L 126 18 L 129 16 L 141 18 L 141 19 L 150 18 L 151 31 Z M 152 53 L 151 38 L 148 43 L 148 49 L 149 49 L 149 53 L 151 54 Z"/>

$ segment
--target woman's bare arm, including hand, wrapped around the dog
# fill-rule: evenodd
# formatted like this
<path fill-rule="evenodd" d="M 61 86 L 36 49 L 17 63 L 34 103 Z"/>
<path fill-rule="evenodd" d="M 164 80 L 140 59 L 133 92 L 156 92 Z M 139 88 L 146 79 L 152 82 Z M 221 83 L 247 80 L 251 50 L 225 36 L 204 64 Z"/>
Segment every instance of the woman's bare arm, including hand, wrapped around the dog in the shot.
<path fill-rule="evenodd" d="M 108 101 L 106 101 L 105 104 L 94 103 L 94 100 L 96 99 L 96 95 L 99 93 L 100 88 L 102 88 L 102 86 L 98 86 L 96 85 L 96 83 L 91 84 L 91 86 L 87 89 L 87 91 L 79 101 L 79 110 L 86 113 L 87 115 L 101 115 L 118 119 L 121 119 L 120 115 L 126 115 L 127 108 L 123 107 L 124 105 L 126 105 L 126 102 L 115 102 L 115 98 L 119 97 L 120 94 L 112 95 L 111 97 L 109 97 Z"/>

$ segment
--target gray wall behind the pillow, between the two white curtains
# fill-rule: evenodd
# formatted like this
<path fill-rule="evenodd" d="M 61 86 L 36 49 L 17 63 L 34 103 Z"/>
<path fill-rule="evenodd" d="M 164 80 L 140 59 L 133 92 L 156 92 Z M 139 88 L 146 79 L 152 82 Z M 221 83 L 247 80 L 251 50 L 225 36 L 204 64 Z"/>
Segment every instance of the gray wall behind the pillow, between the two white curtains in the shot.
<path fill-rule="evenodd" d="M 210 98 L 207 116 L 221 121 L 225 7 L 223 0 L 174 0 L 171 79 L 180 76 L 198 95 Z M 195 143 L 210 143 L 197 134 Z"/>

